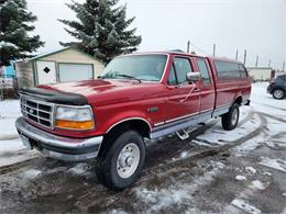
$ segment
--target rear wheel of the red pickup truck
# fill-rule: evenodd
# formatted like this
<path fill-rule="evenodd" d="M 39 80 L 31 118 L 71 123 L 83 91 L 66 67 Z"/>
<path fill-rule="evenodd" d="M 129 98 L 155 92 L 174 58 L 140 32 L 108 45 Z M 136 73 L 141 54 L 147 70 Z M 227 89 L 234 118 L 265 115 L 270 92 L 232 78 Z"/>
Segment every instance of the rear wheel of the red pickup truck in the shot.
<path fill-rule="evenodd" d="M 234 103 L 227 114 L 221 116 L 221 124 L 223 129 L 232 131 L 237 127 L 240 119 L 240 105 Z"/>

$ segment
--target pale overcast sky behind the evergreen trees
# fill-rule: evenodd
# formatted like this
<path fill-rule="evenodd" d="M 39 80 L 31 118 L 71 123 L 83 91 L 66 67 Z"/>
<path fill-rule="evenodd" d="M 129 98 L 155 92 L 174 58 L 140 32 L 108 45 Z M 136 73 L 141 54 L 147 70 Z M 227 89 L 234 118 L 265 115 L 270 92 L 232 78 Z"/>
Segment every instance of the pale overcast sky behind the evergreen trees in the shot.
<path fill-rule="evenodd" d="M 84 0 L 77 0 L 82 2 Z M 57 19 L 75 20 L 65 3 L 70 0 L 28 0 L 37 15 L 35 33 L 46 43 L 40 52 L 59 48 L 59 41 L 74 41 Z M 128 4 L 128 16 L 136 16 L 133 26 L 142 35 L 140 50 L 191 50 L 243 60 L 248 66 L 272 66 L 282 69 L 286 60 L 286 0 L 121 0 Z"/>

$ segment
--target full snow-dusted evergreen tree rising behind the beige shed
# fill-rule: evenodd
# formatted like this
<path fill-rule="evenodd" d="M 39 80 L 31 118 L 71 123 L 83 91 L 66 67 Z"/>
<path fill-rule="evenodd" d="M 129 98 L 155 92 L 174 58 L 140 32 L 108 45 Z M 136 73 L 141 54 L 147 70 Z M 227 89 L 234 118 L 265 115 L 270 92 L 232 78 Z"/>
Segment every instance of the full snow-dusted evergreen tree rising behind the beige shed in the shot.
<path fill-rule="evenodd" d="M 135 52 L 141 36 L 134 35 L 136 29 L 129 29 L 134 18 L 127 19 L 127 7 L 117 3 L 118 0 L 86 0 L 67 4 L 78 21 L 59 21 L 69 26 L 65 30 L 79 42 L 61 44 L 77 46 L 105 63 L 122 53 Z"/>

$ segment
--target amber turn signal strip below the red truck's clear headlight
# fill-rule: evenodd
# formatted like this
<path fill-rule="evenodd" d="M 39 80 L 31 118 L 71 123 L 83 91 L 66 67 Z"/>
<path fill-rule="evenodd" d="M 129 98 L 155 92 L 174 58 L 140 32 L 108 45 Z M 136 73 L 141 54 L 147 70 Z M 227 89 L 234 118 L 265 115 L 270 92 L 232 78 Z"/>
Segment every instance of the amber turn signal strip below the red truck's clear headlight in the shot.
<path fill-rule="evenodd" d="M 56 127 L 65 129 L 86 131 L 94 128 L 92 121 L 65 121 L 56 120 Z"/>

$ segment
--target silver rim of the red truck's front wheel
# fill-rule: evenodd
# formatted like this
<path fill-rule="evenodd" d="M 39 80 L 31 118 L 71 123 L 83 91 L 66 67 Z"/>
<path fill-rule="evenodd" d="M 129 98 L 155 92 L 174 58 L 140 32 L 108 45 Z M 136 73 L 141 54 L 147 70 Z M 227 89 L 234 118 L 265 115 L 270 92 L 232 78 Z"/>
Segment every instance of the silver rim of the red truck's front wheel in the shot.
<path fill-rule="evenodd" d="M 118 156 L 117 171 L 122 179 L 130 178 L 138 169 L 140 161 L 140 149 L 136 144 L 125 145 Z"/>

